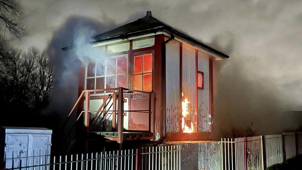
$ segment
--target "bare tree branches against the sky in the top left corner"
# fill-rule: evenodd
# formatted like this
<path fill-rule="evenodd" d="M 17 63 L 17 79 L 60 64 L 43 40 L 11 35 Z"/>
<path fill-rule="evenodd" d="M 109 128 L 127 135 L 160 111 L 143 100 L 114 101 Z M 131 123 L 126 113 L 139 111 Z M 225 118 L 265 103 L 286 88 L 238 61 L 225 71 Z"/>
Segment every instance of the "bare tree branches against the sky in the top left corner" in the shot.
<path fill-rule="evenodd" d="M 20 38 L 24 30 L 21 19 L 22 12 L 15 0 L 0 0 L 0 39 L 5 39 L 6 32 L 11 37 Z"/>

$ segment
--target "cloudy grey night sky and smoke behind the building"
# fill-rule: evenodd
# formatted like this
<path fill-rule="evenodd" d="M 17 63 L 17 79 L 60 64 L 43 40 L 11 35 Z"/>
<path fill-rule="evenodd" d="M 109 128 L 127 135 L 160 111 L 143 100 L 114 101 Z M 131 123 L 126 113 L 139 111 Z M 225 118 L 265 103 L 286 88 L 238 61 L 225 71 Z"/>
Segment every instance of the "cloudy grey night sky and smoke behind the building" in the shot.
<path fill-rule="evenodd" d="M 95 22 L 99 34 L 152 11 L 158 20 L 230 56 L 214 62 L 216 134 L 227 127 L 270 134 L 302 125 L 301 112 L 288 112 L 302 110 L 302 1 L 19 2 L 26 35 L 11 44 L 41 51 L 70 18 Z"/>

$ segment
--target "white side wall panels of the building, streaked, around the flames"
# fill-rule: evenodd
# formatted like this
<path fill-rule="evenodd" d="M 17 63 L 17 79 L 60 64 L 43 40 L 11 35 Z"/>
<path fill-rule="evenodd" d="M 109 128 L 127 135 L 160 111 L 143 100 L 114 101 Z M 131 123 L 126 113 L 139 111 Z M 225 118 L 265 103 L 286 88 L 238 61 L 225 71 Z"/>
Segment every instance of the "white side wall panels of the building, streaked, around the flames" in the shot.
<path fill-rule="evenodd" d="M 179 41 L 166 45 L 166 131 L 179 132 Z M 191 119 L 195 121 L 195 48 L 183 44 L 182 91 L 190 103 Z M 209 54 L 198 51 L 198 71 L 204 72 L 204 89 L 197 90 L 198 132 L 210 131 Z"/>

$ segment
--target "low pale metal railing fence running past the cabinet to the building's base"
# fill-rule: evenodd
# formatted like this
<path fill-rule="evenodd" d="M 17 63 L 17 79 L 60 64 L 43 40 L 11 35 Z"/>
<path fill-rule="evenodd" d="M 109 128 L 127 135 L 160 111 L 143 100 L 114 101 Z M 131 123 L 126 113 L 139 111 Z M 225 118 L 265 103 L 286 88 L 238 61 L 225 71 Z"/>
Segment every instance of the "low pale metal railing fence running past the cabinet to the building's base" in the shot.
<path fill-rule="evenodd" d="M 180 170 L 180 152 L 179 145 L 167 145 L 54 157 L 50 155 L 19 157 L 13 154 L 5 160 L 7 170 Z"/>

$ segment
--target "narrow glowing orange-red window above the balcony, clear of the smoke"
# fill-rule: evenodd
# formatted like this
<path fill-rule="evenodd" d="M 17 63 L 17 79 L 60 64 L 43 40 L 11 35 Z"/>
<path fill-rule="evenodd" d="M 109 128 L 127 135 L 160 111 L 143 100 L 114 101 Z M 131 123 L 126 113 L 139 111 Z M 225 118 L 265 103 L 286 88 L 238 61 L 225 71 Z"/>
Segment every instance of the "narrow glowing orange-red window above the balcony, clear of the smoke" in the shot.
<path fill-rule="evenodd" d="M 152 54 L 133 57 L 133 89 L 152 90 Z"/>

